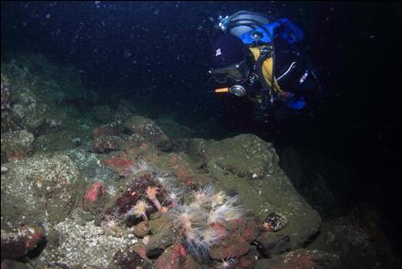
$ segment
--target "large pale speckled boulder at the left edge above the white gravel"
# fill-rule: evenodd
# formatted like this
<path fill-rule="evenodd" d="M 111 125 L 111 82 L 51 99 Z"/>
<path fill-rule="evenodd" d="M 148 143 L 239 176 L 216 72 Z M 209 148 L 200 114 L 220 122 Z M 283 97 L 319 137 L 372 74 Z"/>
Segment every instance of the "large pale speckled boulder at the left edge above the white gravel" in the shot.
<path fill-rule="evenodd" d="M 66 155 L 35 155 L 8 162 L 2 174 L 2 217 L 14 222 L 63 220 L 82 197 L 83 182 Z"/>

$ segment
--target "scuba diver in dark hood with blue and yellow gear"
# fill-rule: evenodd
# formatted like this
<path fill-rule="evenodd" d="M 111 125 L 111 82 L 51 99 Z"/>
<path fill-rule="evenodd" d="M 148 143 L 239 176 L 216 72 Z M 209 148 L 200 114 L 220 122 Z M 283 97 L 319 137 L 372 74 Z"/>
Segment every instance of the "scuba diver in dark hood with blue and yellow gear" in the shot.
<path fill-rule="evenodd" d="M 222 35 L 213 43 L 211 78 L 217 94 L 253 102 L 253 119 L 289 119 L 312 111 L 321 87 L 301 41 L 303 31 L 287 18 L 249 11 L 220 16 Z"/>

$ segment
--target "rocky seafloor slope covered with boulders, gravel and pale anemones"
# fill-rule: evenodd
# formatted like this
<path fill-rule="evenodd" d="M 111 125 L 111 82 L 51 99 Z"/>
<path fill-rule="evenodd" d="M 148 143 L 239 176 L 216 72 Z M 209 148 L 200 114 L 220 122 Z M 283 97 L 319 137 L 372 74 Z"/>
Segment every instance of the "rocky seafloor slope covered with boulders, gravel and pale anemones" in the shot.
<path fill-rule="evenodd" d="M 2 268 L 400 265 L 373 206 L 335 213 L 334 162 L 110 99 L 42 55 L 2 63 Z"/>

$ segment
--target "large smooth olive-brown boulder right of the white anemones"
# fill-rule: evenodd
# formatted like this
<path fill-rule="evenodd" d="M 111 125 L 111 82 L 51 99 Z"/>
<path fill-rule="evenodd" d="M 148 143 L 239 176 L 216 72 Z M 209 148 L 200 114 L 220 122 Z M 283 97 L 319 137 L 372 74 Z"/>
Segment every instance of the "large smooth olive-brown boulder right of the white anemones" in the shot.
<path fill-rule="evenodd" d="M 217 185 L 239 193 L 247 210 L 262 221 L 271 212 L 283 216 L 287 224 L 276 233 L 288 235 L 292 249 L 304 246 L 318 233 L 320 215 L 295 191 L 279 167 L 273 145 L 251 134 L 193 142 L 193 153 L 204 159 L 206 170 L 217 179 Z"/>

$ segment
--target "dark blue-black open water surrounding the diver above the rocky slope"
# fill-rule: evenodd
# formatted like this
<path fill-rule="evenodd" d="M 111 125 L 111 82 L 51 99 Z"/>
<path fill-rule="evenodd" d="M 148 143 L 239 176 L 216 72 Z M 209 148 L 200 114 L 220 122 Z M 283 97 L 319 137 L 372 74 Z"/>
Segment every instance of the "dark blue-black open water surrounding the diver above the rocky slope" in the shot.
<path fill-rule="evenodd" d="M 240 100 L 203 88 L 219 15 L 247 9 L 301 26 L 325 103 L 314 118 L 281 129 L 250 120 Z M 73 64 L 105 103 L 117 94 L 155 100 L 184 123 L 218 119 L 216 139 L 253 132 L 343 163 L 360 186 L 351 201 L 374 202 L 400 242 L 401 78 L 397 2 L 2 2 L 2 61 L 43 53 Z M 343 184 L 340 179 L 339 184 Z M 367 185 L 375 186 L 368 191 Z"/>

